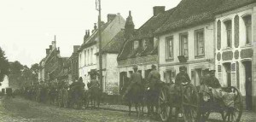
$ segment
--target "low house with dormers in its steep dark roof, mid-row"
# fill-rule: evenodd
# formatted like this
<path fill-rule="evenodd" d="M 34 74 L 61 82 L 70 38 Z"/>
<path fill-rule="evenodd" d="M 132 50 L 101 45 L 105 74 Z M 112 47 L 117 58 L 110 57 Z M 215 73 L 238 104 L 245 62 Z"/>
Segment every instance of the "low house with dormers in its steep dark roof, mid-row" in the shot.
<path fill-rule="evenodd" d="M 128 85 L 128 79 L 133 73 L 132 67 L 137 65 L 138 72 L 147 80 L 151 66 L 158 65 L 158 41 L 154 37 L 154 31 L 160 27 L 172 14 L 174 9 L 165 10 L 163 6 L 153 8 L 154 15 L 139 29 L 134 29 L 131 12 L 125 24 L 125 44 L 119 52 L 119 94 L 123 94 L 122 88 Z"/>

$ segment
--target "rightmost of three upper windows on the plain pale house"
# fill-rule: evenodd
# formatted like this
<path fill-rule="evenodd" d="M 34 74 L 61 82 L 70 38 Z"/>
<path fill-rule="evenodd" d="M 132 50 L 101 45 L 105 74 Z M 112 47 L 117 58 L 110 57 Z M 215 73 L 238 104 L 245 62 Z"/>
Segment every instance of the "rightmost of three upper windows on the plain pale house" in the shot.
<path fill-rule="evenodd" d="M 195 31 L 195 54 L 205 55 L 204 30 Z"/>

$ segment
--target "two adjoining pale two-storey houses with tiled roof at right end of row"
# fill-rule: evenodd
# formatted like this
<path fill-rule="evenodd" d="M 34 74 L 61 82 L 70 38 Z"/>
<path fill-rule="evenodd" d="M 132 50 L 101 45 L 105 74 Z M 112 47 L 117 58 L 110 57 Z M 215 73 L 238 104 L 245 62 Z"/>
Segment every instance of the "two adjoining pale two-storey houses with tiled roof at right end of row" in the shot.
<path fill-rule="evenodd" d="M 155 37 L 160 38 L 161 79 L 175 82 L 179 67 L 187 67 L 192 83 L 199 85 L 202 69 L 215 69 L 220 84 L 238 88 L 244 107 L 255 109 L 255 3 L 254 0 L 179 3 L 155 32 Z M 249 99 L 249 95 L 253 98 Z"/>

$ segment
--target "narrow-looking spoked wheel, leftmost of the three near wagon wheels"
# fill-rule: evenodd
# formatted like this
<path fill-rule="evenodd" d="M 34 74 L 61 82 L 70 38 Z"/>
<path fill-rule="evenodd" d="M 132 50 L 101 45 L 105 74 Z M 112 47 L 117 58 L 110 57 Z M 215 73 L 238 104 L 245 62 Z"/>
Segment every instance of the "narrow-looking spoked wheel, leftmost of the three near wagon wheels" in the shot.
<path fill-rule="evenodd" d="M 167 121 L 169 119 L 170 106 L 168 105 L 168 93 L 166 89 L 160 90 L 158 103 L 160 118 L 162 121 Z"/>

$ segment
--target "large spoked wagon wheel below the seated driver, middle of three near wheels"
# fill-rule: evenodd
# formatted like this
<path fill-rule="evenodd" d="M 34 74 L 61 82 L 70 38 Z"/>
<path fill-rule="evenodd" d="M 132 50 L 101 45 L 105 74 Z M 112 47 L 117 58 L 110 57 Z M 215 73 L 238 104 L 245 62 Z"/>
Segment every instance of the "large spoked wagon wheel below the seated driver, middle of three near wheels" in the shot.
<path fill-rule="evenodd" d="M 199 95 L 192 84 L 183 90 L 182 103 L 184 121 L 197 122 L 199 119 Z"/>

